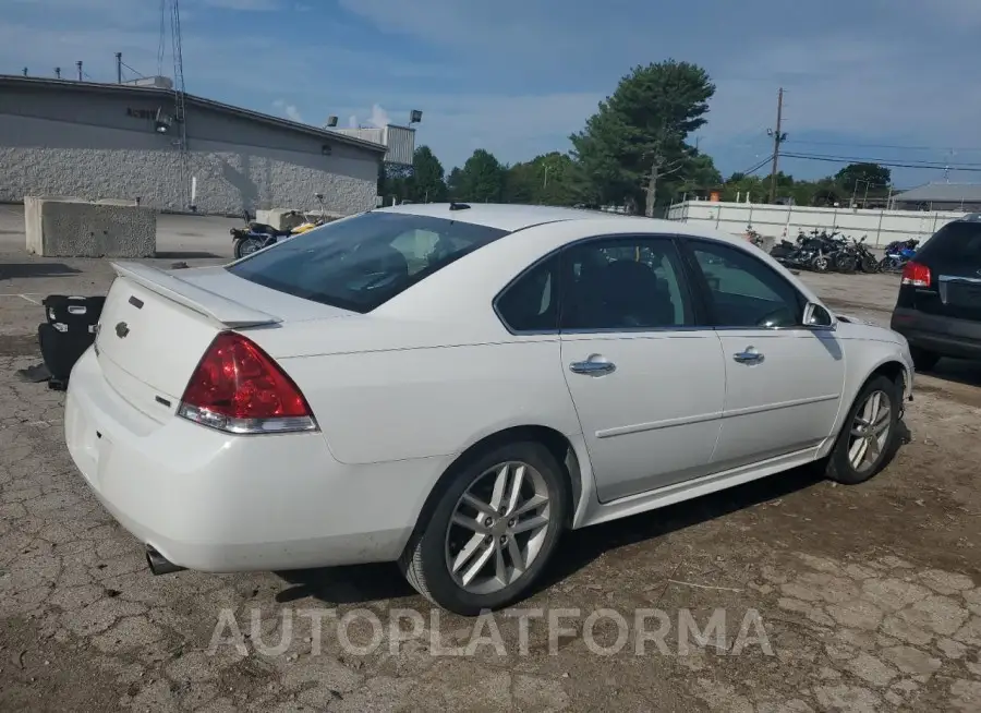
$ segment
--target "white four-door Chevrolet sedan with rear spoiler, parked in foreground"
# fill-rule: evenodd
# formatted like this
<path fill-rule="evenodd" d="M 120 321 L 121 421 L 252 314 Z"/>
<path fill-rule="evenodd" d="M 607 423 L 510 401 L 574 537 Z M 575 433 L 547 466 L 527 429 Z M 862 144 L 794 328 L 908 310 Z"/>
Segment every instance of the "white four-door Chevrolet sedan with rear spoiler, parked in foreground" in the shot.
<path fill-rule="evenodd" d="M 564 530 L 814 462 L 865 481 L 911 398 L 903 337 L 678 222 L 408 205 L 116 270 L 65 439 L 156 573 L 398 561 L 476 614 Z"/>

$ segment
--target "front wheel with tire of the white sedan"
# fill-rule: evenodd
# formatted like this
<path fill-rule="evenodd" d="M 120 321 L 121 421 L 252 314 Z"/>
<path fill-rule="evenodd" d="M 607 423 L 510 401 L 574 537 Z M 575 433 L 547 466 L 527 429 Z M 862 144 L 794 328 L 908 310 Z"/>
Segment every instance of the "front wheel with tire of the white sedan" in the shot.
<path fill-rule="evenodd" d="M 895 382 L 881 375 L 862 387 L 828 457 L 828 480 L 857 485 L 883 469 L 896 444 L 899 389 Z"/>

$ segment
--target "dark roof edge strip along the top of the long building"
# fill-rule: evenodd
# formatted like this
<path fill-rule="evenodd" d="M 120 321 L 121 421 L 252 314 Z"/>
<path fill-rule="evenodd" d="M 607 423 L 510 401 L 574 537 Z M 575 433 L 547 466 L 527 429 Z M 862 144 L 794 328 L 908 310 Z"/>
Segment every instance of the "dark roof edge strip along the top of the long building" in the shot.
<path fill-rule="evenodd" d="M 73 80 L 51 80 L 47 77 L 20 76 L 12 74 L 0 74 L 0 88 L 2 87 L 33 87 L 37 89 L 48 89 L 51 92 L 87 92 L 90 94 L 126 94 L 138 97 L 170 98 L 173 96 L 172 90 L 164 89 L 155 86 L 134 86 L 132 84 L 106 84 L 101 82 L 78 82 Z M 252 111 L 234 107 L 230 104 L 222 104 L 213 99 L 184 94 L 184 104 L 233 114 L 243 119 L 250 119 L 259 123 L 265 123 L 281 129 L 299 131 L 318 138 L 335 141 L 339 144 L 356 146 L 366 150 L 384 154 L 388 150 L 382 144 L 364 141 L 355 136 L 349 136 L 329 129 L 320 129 L 311 124 L 304 124 L 289 119 L 280 119 L 267 113 Z"/>

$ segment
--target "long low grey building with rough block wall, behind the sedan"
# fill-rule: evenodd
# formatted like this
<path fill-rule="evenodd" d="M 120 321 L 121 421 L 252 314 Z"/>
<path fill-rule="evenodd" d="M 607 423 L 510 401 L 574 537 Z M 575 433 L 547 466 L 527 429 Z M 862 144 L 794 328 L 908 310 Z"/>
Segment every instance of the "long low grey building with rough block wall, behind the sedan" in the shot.
<path fill-rule="evenodd" d="M 349 215 L 376 205 L 379 162 L 411 162 L 414 130 L 389 134 L 390 147 L 178 93 L 166 77 L 0 75 L 0 203 L 62 195 L 235 215 L 313 208 L 322 193 Z"/>

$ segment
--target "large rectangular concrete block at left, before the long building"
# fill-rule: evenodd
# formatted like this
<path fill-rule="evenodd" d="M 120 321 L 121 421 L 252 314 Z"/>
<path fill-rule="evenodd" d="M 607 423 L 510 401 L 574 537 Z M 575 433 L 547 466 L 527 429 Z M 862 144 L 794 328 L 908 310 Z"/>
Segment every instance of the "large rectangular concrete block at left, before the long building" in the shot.
<path fill-rule="evenodd" d="M 132 201 L 25 196 L 27 252 L 45 257 L 153 257 L 157 214 Z"/>

